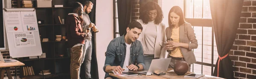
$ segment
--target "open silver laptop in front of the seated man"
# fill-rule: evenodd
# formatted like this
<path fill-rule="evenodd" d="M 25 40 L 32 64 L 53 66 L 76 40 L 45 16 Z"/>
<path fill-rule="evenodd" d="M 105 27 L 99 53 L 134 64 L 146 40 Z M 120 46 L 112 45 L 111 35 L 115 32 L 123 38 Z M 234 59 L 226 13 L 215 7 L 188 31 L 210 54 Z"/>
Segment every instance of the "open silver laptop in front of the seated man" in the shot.
<path fill-rule="evenodd" d="M 165 73 L 169 67 L 172 58 L 166 59 L 153 59 L 148 71 L 139 71 L 137 73 L 145 74 L 147 73 Z"/>

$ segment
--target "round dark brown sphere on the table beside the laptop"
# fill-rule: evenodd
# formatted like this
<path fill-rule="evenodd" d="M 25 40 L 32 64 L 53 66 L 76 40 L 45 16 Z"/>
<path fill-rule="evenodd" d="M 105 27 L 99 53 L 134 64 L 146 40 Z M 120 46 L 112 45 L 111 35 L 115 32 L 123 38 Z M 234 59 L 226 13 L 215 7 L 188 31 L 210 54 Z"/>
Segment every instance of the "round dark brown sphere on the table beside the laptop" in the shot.
<path fill-rule="evenodd" d="M 185 61 L 176 62 L 174 65 L 174 72 L 177 75 L 184 75 L 189 70 L 189 65 Z"/>

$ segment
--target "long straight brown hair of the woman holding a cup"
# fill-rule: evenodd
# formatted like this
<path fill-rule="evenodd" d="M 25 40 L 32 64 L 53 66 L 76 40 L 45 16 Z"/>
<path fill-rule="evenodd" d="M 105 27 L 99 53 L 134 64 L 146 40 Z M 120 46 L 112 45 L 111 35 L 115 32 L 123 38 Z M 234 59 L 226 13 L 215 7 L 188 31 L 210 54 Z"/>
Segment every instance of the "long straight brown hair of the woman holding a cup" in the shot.
<path fill-rule="evenodd" d="M 179 6 L 173 6 L 171 8 L 171 10 L 169 11 L 169 14 L 168 14 L 168 24 L 169 24 L 169 27 L 172 27 L 172 21 L 170 20 L 170 14 L 172 12 L 174 12 L 175 14 L 180 16 L 180 20 L 179 20 L 179 23 L 178 23 L 179 25 L 182 25 L 182 24 L 186 23 L 186 21 L 184 20 L 184 15 L 183 15 L 182 9 Z"/>

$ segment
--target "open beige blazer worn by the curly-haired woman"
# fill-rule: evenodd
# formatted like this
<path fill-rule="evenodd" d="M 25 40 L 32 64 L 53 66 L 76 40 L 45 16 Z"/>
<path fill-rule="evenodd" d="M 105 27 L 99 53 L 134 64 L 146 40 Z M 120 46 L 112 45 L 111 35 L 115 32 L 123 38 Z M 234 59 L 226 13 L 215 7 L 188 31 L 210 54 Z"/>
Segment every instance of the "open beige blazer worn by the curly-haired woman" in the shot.
<path fill-rule="evenodd" d="M 145 29 L 147 28 L 147 25 L 143 23 L 142 20 L 137 20 L 142 27 L 143 30 L 140 34 L 140 37 L 137 39 L 142 43 L 143 46 L 143 51 L 145 52 Z M 154 45 L 154 58 L 165 58 L 166 56 L 166 49 L 165 49 L 165 44 L 166 44 L 166 37 L 165 37 L 165 29 L 166 26 L 163 23 L 160 23 L 159 25 L 156 26 L 157 28 L 157 37 Z"/>

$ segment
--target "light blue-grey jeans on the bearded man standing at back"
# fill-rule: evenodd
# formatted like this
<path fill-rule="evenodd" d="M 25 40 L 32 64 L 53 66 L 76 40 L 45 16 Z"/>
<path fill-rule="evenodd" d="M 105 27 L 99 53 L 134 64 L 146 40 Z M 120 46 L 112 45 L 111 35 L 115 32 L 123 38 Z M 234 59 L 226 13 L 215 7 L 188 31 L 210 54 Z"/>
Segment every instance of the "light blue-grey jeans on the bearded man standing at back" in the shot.
<path fill-rule="evenodd" d="M 91 75 L 90 75 L 90 62 L 91 62 L 91 59 L 92 59 L 92 41 L 91 40 L 84 40 L 85 44 L 84 44 L 84 47 L 83 47 L 83 54 L 82 54 L 82 60 L 81 60 L 81 63 L 80 65 L 83 64 L 83 62 L 85 61 L 84 63 L 84 69 L 85 69 L 85 78 L 86 79 L 89 79 L 91 78 Z M 80 74 L 80 68 L 79 68 L 79 74 Z M 79 75 L 80 76 L 80 75 Z M 80 79 L 80 77 L 79 77 Z"/>

